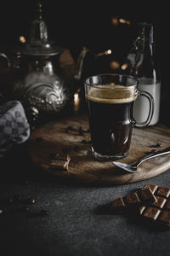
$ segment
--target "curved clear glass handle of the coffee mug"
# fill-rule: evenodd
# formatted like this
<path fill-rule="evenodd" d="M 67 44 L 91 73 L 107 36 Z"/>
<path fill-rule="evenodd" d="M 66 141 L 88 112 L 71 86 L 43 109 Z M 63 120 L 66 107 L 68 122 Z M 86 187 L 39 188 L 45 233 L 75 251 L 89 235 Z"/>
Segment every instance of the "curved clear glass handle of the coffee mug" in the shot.
<path fill-rule="evenodd" d="M 134 125 L 136 127 L 145 127 L 147 125 L 150 124 L 150 121 L 153 117 L 153 113 L 154 113 L 154 98 L 150 95 L 149 92 L 146 92 L 144 90 L 139 90 L 139 96 L 145 96 L 149 102 L 150 102 L 150 111 L 148 113 L 148 117 L 144 122 L 136 122 L 136 120 L 134 119 Z"/>

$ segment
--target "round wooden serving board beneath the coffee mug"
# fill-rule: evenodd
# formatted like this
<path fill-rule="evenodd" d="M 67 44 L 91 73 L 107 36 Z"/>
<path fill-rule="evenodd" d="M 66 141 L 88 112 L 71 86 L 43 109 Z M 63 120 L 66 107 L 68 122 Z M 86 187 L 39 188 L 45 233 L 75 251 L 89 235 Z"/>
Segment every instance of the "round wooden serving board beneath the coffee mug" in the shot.
<path fill-rule="evenodd" d="M 66 132 L 68 126 L 76 131 Z M 90 139 L 89 133 L 78 131 L 88 129 L 88 117 L 75 115 L 58 119 L 42 125 L 31 133 L 27 142 L 28 153 L 35 165 L 56 177 L 65 177 L 82 183 L 94 184 L 121 184 L 135 183 L 166 172 L 170 168 L 170 154 L 158 156 L 146 160 L 139 166 L 136 173 L 123 171 L 111 162 L 96 160 L 91 154 L 90 145 L 83 140 Z M 155 145 L 161 143 L 161 147 Z M 170 145 L 170 129 L 164 125 L 155 125 L 147 128 L 133 128 L 133 137 L 129 154 L 120 160 L 125 163 L 133 163 L 143 157 L 152 149 L 160 150 Z M 78 148 L 77 148 L 78 146 Z M 49 168 L 51 155 L 67 148 L 71 156 L 68 172 L 52 171 Z M 79 150 L 78 150 L 79 149 Z"/>

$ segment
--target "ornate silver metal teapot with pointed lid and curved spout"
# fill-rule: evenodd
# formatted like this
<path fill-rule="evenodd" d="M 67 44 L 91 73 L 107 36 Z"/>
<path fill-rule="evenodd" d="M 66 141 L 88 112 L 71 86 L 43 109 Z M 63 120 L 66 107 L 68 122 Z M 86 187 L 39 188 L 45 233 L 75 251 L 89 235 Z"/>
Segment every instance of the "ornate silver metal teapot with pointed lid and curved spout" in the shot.
<path fill-rule="evenodd" d="M 31 22 L 26 44 L 14 49 L 19 64 L 14 67 L 18 70 L 18 77 L 13 84 L 12 97 L 23 103 L 30 122 L 39 117 L 50 118 L 70 106 L 75 91 L 82 86 L 82 79 L 95 73 L 92 69 L 89 71 L 89 66 L 94 65 L 97 56 L 90 49 L 83 48 L 74 76 L 65 77 L 59 69 L 59 56 L 64 49 L 48 40 L 48 29 L 42 19 L 42 4 L 37 6 L 37 16 Z M 110 52 L 105 51 L 105 54 Z M 7 55 L 0 55 L 11 67 Z"/>

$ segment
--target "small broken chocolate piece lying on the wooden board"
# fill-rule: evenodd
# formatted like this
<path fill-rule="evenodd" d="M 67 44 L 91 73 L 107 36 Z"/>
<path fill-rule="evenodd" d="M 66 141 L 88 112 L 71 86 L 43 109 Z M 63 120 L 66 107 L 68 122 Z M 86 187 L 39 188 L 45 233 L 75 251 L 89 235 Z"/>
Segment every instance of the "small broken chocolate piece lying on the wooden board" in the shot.
<path fill-rule="evenodd" d="M 49 164 L 49 168 L 56 170 L 56 171 L 67 171 L 68 170 L 68 166 L 69 166 L 69 162 L 71 160 L 71 157 L 69 154 L 55 154 L 54 158 L 51 160 L 50 164 Z"/>

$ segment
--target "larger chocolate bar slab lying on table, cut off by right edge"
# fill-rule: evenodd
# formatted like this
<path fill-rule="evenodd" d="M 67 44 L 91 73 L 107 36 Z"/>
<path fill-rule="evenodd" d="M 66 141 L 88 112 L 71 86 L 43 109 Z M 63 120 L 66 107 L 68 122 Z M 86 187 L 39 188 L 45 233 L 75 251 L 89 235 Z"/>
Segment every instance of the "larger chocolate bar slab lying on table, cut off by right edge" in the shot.
<path fill-rule="evenodd" d="M 146 184 L 144 189 L 150 188 L 156 196 L 156 202 L 150 206 L 140 206 L 141 217 L 150 220 L 154 224 L 162 224 L 170 227 L 170 188 L 154 184 Z"/>

